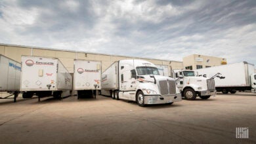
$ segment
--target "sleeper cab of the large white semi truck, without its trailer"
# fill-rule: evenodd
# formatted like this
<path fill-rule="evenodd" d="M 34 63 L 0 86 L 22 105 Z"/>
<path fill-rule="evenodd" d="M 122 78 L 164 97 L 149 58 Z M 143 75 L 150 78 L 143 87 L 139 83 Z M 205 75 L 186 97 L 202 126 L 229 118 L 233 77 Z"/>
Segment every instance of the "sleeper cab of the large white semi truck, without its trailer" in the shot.
<path fill-rule="evenodd" d="M 140 106 L 181 101 L 175 79 L 161 76 L 153 63 L 121 60 L 119 74 L 120 99 L 137 101 Z"/>

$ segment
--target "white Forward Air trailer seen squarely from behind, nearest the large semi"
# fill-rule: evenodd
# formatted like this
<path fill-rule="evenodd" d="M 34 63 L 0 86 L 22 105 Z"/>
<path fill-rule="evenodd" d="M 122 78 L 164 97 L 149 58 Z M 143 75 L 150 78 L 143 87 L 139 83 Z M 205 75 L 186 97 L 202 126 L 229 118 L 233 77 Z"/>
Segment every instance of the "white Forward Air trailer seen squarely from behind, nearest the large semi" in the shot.
<path fill-rule="evenodd" d="M 74 60 L 74 86 L 77 99 L 81 96 L 95 95 L 101 90 L 101 62 L 89 60 Z"/>

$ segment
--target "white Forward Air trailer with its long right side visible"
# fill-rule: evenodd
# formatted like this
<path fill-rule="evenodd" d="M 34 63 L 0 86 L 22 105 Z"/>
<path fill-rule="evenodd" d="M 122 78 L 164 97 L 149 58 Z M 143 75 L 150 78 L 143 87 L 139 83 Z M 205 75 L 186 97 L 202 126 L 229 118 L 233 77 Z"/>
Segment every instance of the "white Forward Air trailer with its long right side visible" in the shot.
<path fill-rule="evenodd" d="M 23 98 L 70 95 L 72 76 L 57 58 L 22 56 L 20 90 Z"/>

